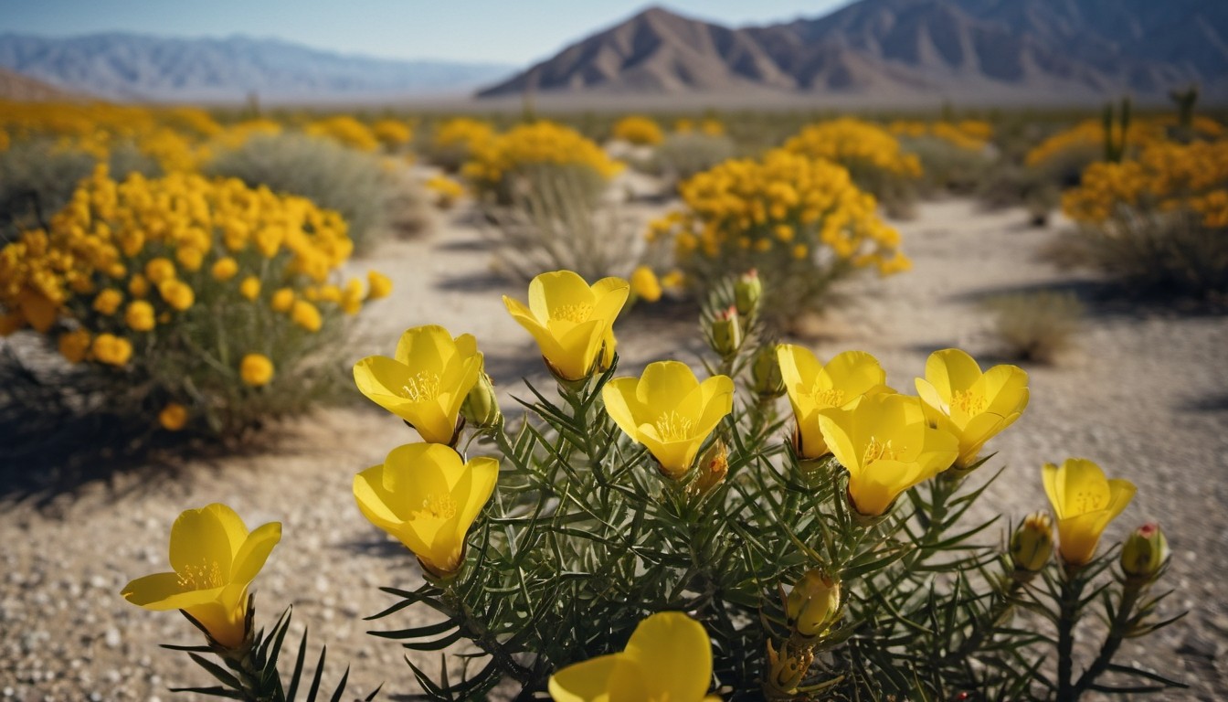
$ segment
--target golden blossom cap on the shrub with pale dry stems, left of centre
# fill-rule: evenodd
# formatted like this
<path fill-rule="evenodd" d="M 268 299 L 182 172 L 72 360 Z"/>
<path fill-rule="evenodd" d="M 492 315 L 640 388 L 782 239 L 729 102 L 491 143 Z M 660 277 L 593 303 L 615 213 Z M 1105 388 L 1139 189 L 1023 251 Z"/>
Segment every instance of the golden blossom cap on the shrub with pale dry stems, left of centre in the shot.
<path fill-rule="evenodd" d="M 537 166 L 578 166 L 608 181 L 623 170 L 596 143 L 554 122 L 521 124 L 475 144 L 464 175 L 478 187 L 497 187 L 505 176 Z"/>

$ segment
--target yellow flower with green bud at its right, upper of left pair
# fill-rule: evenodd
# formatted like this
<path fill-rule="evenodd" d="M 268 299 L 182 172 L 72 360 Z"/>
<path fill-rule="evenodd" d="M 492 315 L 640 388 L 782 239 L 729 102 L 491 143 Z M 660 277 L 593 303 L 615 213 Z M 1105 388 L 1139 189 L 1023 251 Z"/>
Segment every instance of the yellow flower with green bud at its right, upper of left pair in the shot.
<path fill-rule="evenodd" d="M 354 364 L 362 395 L 409 422 L 422 440 L 451 444 L 460 404 L 478 382 L 481 354 L 472 334 L 456 339 L 437 325 L 406 329 L 393 358 Z"/>

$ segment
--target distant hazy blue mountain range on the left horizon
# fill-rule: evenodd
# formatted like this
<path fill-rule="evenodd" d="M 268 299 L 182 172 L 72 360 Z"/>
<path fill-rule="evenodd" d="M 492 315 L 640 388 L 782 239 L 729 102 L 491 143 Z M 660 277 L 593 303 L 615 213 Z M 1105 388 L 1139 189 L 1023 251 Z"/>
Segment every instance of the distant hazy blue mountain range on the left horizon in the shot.
<path fill-rule="evenodd" d="M 491 64 L 389 60 L 235 36 L 0 34 L 0 68 L 111 100 L 269 102 L 457 93 L 511 73 Z"/>

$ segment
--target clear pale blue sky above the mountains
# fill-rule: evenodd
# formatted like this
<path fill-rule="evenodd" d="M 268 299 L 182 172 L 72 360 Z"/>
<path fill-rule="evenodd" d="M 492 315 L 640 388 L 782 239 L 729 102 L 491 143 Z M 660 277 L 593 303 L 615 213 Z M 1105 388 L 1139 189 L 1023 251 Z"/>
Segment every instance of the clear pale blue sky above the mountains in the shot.
<path fill-rule="evenodd" d="M 383 58 L 527 64 L 645 0 L 0 0 L 0 33 L 242 33 Z M 679 14 L 740 26 L 817 17 L 849 0 L 670 0 Z"/>

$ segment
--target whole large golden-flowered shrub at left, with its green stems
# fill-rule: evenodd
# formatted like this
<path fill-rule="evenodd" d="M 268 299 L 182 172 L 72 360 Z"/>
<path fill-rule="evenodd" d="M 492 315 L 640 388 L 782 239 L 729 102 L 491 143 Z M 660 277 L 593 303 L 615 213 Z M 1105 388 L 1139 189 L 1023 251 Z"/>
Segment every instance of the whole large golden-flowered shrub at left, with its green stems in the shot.
<path fill-rule="evenodd" d="M 233 438 L 339 387 L 343 317 L 388 288 L 340 285 L 351 248 L 341 216 L 300 197 L 98 168 L 0 250 L 2 326 L 32 327 L 113 408 Z"/>

